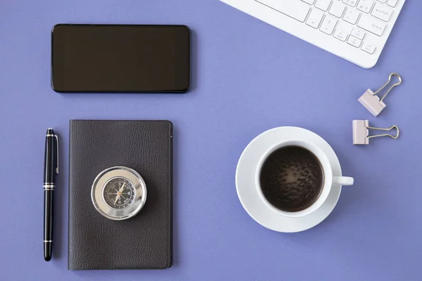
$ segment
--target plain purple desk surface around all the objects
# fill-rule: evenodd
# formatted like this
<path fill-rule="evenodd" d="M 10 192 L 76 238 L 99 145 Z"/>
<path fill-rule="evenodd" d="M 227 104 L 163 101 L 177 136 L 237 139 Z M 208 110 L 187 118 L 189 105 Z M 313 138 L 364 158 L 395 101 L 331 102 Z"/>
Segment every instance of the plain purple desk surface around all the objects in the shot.
<path fill-rule="evenodd" d="M 0 280 L 421 280 L 420 11 L 422 1 L 407 1 L 378 65 L 364 70 L 217 0 L 2 0 Z M 192 90 L 55 93 L 50 32 L 57 23 L 188 25 Z M 382 86 L 390 72 L 404 83 L 372 117 L 357 98 Z M 67 269 L 70 119 L 174 123 L 172 268 Z M 353 119 L 397 124 L 401 136 L 353 146 Z M 42 169 L 49 126 L 60 134 L 62 157 L 53 261 L 46 263 Z M 318 133 L 333 146 L 343 174 L 355 178 L 326 221 L 303 233 L 267 230 L 236 195 L 243 148 L 275 126 Z"/>

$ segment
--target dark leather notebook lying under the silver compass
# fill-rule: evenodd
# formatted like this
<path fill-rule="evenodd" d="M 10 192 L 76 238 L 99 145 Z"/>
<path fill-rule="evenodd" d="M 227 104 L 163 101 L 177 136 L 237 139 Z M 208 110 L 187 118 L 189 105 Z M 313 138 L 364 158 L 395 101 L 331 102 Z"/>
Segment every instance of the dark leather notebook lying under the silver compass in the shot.
<path fill-rule="evenodd" d="M 146 183 L 139 214 L 102 216 L 91 201 L 101 171 L 127 166 Z M 143 269 L 172 265 L 172 123 L 70 121 L 68 268 Z"/>

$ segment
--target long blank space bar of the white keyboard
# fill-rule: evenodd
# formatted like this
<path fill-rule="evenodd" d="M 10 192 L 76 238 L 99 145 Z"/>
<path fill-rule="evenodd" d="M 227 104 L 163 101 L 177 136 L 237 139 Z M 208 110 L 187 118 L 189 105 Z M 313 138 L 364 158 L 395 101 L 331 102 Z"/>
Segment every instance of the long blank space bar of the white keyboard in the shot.
<path fill-rule="evenodd" d="M 256 0 L 257 1 L 257 0 Z M 305 18 L 309 13 L 309 6 L 303 2 L 297 1 L 280 1 L 280 0 L 260 0 L 257 1 L 269 8 L 273 8 L 280 13 L 288 15 L 290 18 L 305 22 Z"/>

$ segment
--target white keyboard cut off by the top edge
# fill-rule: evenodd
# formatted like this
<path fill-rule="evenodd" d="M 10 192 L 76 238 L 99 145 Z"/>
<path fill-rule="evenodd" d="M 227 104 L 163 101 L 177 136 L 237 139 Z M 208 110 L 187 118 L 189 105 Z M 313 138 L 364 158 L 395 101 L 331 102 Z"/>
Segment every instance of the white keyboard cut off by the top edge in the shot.
<path fill-rule="evenodd" d="M 405 0 L 221 0 L 364 68 L 376 65 Z"/>

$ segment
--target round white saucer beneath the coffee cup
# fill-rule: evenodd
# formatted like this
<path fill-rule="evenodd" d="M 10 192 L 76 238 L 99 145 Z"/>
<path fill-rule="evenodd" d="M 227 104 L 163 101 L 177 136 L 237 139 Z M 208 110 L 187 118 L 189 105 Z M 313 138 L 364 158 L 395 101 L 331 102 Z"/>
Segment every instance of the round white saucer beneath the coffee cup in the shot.
<path fill-rule="evenodd" d="M 261 133 L 243 150 L 236 168 L 236 190 L 243 208 L 257 223 L 281 233 L 296 233 L 313 228 L 333 211 L 340 197 L 341 185 L 333 185 L 327 200 L 312 214 L 299 218 L 282 216 L 262 202 L 255 187 L 255 174 L 260 157 L 281 141 L 306 140 L 323 150 L 333 169 L 333 176 L 342 176 L 340 162 L 333 148 L 316 133 L 298 127 L 279 127 Z"/>

